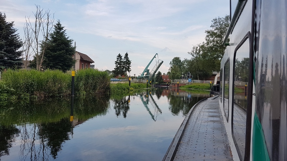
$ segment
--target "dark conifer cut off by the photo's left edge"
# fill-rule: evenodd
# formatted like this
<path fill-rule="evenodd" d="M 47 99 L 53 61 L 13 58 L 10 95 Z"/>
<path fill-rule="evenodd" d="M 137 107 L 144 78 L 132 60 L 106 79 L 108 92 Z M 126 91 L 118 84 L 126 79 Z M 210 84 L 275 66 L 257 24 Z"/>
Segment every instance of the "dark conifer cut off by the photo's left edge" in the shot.
<path fill-rule="evenodd" d="M 0 12 L 0 67 L 13 68 L 21 67 L 23 64 L 22 52 L 19 50 L 22 46 L 22 40 L 17 29 L 13 26 L 14 22 L 6 22 L 5 13 Z"/>

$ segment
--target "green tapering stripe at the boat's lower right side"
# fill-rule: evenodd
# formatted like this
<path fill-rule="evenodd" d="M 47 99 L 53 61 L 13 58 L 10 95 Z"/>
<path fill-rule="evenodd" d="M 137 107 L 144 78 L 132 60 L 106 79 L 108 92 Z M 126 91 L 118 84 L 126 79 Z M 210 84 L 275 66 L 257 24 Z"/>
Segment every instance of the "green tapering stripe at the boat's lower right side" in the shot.
<path fill-rule="evenodd" d="M 259 121 L 256 111 L 254 114 L 254 126 L 252 136 L 252 158 L 254 161 L 270 161 L 262 125 Z"/>

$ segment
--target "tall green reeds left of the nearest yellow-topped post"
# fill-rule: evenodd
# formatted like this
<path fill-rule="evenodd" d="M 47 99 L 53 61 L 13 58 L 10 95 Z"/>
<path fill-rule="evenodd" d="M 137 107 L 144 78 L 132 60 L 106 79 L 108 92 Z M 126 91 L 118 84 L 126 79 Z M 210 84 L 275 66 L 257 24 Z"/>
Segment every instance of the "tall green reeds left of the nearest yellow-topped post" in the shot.
<path fill-rule="evenodd" d="M 60 70 L 7 70 L 2 74 L 2 81 L 15 96 L 37 96 L 44 98 L 50 96 L 67 96 L 71 90 L 71 76 Z"/>

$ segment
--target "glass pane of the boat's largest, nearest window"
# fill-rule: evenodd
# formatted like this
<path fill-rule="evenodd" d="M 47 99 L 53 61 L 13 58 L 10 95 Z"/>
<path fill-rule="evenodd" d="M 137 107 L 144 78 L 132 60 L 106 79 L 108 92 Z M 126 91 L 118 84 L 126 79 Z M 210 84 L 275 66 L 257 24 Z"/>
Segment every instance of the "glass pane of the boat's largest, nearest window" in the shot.
<path fill-rule="evenodd" d="M 244 160 L 246 111 L 249 78 L 249 39 L 237 51 L 234 59 L 232 134 L 239 158 Z"/>

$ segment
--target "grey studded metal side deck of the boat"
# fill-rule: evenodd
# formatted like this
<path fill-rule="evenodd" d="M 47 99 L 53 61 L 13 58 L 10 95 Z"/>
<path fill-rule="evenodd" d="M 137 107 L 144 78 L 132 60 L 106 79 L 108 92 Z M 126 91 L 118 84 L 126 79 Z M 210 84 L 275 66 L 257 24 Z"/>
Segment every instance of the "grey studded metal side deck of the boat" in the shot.
<path fill-rule="evenodd" d="M 218 98 L 214 98 L 189 111 L 163 160 L 233 160 Z"/>

